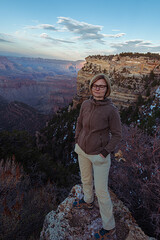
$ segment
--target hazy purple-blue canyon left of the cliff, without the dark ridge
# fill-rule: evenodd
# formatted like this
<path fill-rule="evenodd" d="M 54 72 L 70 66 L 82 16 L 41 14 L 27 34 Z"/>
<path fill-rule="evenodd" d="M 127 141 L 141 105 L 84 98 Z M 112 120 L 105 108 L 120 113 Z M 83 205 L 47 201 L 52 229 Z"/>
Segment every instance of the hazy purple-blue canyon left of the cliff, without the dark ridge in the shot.
<path fill-rule="evenodd" d="M 41 113 L 68 105 L 76 93 L 83 61 L 0 56 L 0 96 L 26 103 Z"/>

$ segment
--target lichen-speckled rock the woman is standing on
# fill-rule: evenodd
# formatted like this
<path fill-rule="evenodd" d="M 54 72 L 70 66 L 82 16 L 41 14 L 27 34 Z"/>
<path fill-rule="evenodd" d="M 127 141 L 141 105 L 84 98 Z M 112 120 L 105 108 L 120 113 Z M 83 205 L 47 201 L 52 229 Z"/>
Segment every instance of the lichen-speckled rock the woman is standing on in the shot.
<path fill-rule="evenodd" d="M 133 219 L 128 208 L 110 191 L 116 220 L 118 240 L 153 240 L 144 234 Z M 45 218 L 40 240 L 90 240 L 94 232 L 102 227 L 98 203 L 95 198 L 93 210 L 78 210 L 72 207 L 75 198 L 82 197 L 81 185 L 72 188 L 57 208 Z"/>

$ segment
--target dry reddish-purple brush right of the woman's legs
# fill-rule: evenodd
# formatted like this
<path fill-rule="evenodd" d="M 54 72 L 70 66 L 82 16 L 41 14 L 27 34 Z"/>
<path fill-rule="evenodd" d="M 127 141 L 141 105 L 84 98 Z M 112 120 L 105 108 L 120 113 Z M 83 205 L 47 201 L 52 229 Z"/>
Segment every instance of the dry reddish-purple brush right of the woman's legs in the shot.
<path fill-rule="evenodd" d="M 113 160 L 111 187 L 129 207 L 142 229 L 160 236 L 160 135 L 144 134 L 134 127 L 123 128 L 119 145 L 126 161 Z M 121 156 L 122 157 L 122 156 Z"/>

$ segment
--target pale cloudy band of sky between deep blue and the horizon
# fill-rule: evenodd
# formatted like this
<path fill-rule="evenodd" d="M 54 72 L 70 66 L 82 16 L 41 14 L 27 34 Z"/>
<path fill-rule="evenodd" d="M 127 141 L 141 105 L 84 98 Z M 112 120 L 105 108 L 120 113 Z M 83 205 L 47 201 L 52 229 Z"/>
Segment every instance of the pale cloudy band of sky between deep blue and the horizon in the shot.
<path fill-rule="evenodd" d="M 36 24 L 18 29 L 12 35 L 0 33 L 0 50 L 74 60 L 95 54 L 160 53 L 160 45 L 142 39 L 129 39 L 116 27 L 110 34 L 104 31 L 103 26 L 62 16 L 54 25 Z"/>

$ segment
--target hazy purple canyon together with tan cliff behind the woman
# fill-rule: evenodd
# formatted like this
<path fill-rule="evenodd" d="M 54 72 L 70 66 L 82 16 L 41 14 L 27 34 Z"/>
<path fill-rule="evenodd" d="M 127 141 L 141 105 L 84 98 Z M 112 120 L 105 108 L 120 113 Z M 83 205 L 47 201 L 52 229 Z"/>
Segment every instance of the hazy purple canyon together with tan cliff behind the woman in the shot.
<path fill-rule="evenodd" d="M 85 61 L 0 56 L 0 96 L 20 101 L 41 113 L 55 113 L 73 100 L 73 108 L 90 95 L 97 73 L 110 77 L 111 99 L 118 108 L 134 105 L 139 96 L 154 96 L 160 84 L 158 54 L 93 55 Z"/>

